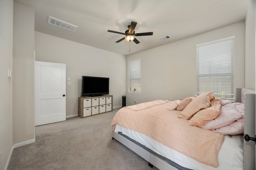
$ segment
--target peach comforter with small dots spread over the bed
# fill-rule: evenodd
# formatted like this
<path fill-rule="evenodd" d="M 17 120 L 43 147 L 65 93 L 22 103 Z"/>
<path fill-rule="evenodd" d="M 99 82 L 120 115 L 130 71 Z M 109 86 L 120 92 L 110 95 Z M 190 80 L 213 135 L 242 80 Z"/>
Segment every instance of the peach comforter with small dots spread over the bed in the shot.
<path fill-rule="evenodd" d="M 120 109 L 112 120 L 112 131 L 115 125 L 132 129 L 199 162 L 218 167 L 218 152 L 224 135 L 190 126 L 188 120 L 178 118 L 180 111 L 168 110 L 170 101 L 156 106 L 147 103 Z"/>

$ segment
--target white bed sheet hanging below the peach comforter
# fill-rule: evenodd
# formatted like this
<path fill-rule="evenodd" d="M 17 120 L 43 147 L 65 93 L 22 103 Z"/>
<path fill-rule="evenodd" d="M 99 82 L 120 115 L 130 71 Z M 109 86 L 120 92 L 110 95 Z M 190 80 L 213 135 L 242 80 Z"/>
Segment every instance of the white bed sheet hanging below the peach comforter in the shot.
<path fill-rule="evenodd" d="M 124 135 L 131 139 L 143 144 L 145 147 L 153 150 L 154 152 L 176 162 L 180 166 L 193 170 L 243 170 L 243 138 L 241 136 L 226 135 L 224 143 L 218 155 L 219 166 L 217 168 L 209 166 L 194 160 L 174 149 L 159 143 L 158 141 L 144 135 L 127 129 L 120 125 L 116 125 L 115 132 L 122 132 Z"/>

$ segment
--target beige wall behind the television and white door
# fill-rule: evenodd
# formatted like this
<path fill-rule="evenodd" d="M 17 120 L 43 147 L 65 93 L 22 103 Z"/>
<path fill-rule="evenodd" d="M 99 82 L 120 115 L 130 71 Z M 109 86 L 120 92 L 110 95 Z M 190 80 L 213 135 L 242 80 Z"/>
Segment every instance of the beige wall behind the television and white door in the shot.
<path fill-rule="evenodd" d="M 61 28 L 60 28 L 61 29 Z M 67 31 L 67 33 L 70 33 Z M 122 106 L 126 93 L 126 57 L 35 31 L 36 61 L 66 64 L 66 115 L 78 114 L 82 76 L 109 77 L 113 107 Z"/>

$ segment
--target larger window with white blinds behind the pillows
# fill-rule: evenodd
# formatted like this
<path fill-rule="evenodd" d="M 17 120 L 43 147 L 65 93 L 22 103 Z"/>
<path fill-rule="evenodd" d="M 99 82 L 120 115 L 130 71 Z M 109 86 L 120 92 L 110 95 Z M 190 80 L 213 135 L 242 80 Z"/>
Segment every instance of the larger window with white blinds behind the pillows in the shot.
<path fill-rule="evenodd" d="M 234 38 L 196 45 L 196 94 L 234 97 Z"/>

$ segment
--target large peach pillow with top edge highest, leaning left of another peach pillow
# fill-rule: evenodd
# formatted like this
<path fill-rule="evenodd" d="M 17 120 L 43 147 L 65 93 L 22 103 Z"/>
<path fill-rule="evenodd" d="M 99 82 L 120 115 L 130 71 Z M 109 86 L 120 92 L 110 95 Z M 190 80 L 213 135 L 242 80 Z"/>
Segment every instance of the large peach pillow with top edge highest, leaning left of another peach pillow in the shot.
<path fill-rule="evenodd" d="M 213 92 L 203 93 L 192 100 L 181 112 L 178 117 L 182 119 L 190 119 L 199 110 L 210 106 L 210 100 L 214 99 Z"/>

